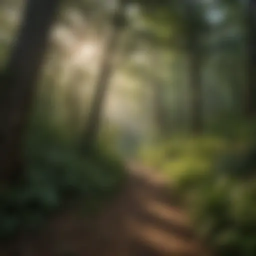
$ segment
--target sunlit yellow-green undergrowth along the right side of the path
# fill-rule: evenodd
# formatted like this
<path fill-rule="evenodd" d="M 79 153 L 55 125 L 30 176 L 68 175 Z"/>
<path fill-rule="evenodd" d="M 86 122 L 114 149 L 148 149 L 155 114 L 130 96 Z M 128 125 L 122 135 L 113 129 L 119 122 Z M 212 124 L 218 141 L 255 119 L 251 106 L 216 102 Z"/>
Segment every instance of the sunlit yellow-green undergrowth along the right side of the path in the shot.
<path fill-rule="evenodd" d="M 248 140 L 254 128 L 243 122 L 229 126 L 230 137 L 170 139 L 140 156 L 170 177 L 198 234 L 217 255 L 256 253 L 256 161 L 254 141 Z"/>

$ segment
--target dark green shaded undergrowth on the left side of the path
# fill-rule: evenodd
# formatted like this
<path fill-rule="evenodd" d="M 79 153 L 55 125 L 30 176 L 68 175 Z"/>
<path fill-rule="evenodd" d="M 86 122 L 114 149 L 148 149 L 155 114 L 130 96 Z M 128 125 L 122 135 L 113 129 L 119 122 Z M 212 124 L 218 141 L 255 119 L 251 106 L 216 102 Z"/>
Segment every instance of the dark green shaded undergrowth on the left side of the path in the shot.
<path fill-rule="evenodd" d="M 31 122 L 24 180 L 1 190 L 2 239 L 38 228 L 69 199 L 80 198 L 84 213 L 94 214 L 124 180 L 116 156 L 101 147 L 82 155 L 63 131 L 49 124 L 45 120 Z"/>

